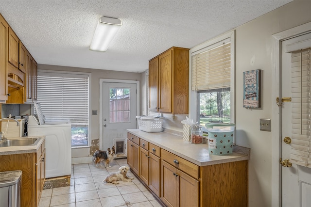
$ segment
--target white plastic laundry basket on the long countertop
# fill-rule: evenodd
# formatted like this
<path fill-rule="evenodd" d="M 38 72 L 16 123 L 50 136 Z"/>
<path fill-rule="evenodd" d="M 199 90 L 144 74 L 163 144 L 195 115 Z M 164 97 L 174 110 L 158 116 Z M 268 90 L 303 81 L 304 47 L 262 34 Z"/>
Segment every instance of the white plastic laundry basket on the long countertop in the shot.
<path fill-rule="evenodd" d="M 145 132 L 160 132 L 162 131 L 164 117 L 154 116 L 136 116 L 138 128 Z"/>

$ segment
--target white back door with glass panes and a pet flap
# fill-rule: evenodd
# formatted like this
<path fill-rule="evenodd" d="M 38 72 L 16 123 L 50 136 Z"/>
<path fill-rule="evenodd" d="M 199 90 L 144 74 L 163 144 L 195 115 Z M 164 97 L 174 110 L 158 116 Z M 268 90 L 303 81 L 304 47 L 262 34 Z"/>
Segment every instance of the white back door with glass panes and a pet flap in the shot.
<path fill-rule="evenodd" d="M 112 147 L 113 138 L 127 137 L 126 129 L 136 128 L 137 87 L 137 83 L 103 82 L 102 150 Z"/>

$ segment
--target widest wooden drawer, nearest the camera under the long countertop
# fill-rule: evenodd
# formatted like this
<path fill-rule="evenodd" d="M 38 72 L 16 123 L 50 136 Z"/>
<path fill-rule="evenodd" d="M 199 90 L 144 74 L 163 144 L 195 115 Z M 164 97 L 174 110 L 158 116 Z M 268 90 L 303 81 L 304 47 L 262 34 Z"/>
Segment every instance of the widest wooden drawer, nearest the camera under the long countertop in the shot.
<path fill-rule="evenodd" d="M 186 159 L 180 158 L 177 155 L 174 155 L 164 149 L 161 149 L 161 159 L 164 159 L 171 165 L 184 171 L 185 173 L 191 175 L 192 177 L 196 179 L 199 178 L 199 166 L 198 165 L 193 164 L 192 162 Z"/>

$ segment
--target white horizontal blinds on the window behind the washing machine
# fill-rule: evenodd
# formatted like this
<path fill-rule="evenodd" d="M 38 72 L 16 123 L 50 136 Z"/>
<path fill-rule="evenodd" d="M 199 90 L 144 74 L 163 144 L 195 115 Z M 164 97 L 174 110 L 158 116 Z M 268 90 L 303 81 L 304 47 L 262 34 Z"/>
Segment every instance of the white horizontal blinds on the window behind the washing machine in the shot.
<path fill-rule="evenodd" d="M 88 126 L 88 75 L 38 73 L 38 102 L 47 121 Z"/>

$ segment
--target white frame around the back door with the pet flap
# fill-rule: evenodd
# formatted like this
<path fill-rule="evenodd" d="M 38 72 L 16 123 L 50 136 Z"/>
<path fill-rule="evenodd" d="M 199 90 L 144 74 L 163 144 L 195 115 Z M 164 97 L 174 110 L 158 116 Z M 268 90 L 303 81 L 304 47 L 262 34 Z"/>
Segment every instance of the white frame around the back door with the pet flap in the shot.
<path fill-rule="evenodd" d="M 99 149 L 103 150 L 103 83 L 136 83 L 136 115 L 140 113 L 140 85 L 139 80 L 99 79 Z M 137 123 L 136 123 L 137 127 Z"/>

